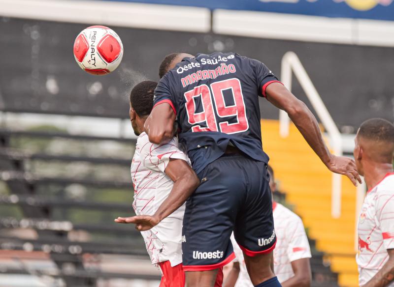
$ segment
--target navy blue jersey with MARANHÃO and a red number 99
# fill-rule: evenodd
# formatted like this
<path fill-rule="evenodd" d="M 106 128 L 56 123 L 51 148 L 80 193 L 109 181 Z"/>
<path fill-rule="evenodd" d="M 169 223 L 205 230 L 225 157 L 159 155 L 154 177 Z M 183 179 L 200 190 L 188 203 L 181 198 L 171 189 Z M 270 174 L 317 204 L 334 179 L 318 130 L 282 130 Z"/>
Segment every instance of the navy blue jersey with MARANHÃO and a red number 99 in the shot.
<path fill-rule="evenodd" d="M 229 144 L 268 163 L 261 138 L 258 96 L 278 82 L 260 61 L 216 52 L 184 58 L 160 80 L 154 104 L 167 102 L 177 116 L 179 139 L 196 173 Z"/>

